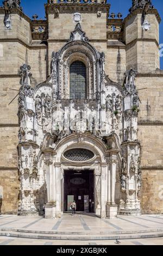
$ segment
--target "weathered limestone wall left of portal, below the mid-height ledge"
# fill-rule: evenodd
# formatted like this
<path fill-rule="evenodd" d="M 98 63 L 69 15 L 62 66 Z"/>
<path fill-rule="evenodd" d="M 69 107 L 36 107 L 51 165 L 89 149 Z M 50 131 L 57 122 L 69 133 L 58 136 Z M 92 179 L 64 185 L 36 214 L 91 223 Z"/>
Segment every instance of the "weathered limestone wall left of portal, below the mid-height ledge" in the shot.
<path fill-rule="evenodd" d="M 0 126 L 0 186 L 3 191 L 2 214 L 16 214 L 20 184 L 17 169 L 18 127 Z"/>

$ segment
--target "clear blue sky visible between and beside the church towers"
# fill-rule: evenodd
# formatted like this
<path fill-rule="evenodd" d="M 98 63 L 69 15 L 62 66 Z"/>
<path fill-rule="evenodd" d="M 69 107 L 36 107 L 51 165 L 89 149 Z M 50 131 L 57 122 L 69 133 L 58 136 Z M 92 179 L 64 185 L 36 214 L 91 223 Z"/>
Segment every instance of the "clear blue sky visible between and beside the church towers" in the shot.
<path fill-rule="evenodd" d="M 46 3 L 47 0 L 21 0 L 21 5 L 23 7 L 24 13 L 32 17 L 33 14 L 39 15 L 40 19 L 45 18 L 45 9 L 43 4 Z M 128 9 L 131 7 L 131 0 L 109 0 L 111 4 L 110 13 L 122 13 L 123 18 L 128 15 Z M 162 0 L 152 0 L 152 3 L 156 9 L 158 9 L 159 14 L 161 16 L 162 22 L 160 24 L 160 44 L 163 44 L 163 1 Z M 2 0 L 0 0 L 0 5 L 2 4 Z M 163 57 L 160 58 L 161 69 L 163 69 Z"/>

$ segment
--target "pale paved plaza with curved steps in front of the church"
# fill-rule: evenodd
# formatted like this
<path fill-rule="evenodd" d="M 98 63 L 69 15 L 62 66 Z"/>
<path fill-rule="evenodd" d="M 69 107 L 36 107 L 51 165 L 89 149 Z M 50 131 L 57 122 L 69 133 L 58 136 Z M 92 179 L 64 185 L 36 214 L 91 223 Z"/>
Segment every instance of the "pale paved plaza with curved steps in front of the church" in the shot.
<path fill-rule="evenodd" d="M 93 214 L 0 216 L 0 245 L 163 245 L 163 215 L 118 216 L 101 219 Z M 162 238 L 161 238 L 162 237 Z"/>

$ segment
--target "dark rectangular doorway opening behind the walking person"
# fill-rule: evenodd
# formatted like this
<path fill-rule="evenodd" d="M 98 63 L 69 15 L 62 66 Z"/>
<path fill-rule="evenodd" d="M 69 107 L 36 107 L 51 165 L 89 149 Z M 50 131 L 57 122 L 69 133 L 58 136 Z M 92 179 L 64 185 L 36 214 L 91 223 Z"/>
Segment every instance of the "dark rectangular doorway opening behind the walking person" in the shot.
<path fill-rule="evenodd" d="M 76 201 L 77 211 L 94 212 L 93 170 L 65 170 L 64 211 L 70 211 L 70 204 Z"/>

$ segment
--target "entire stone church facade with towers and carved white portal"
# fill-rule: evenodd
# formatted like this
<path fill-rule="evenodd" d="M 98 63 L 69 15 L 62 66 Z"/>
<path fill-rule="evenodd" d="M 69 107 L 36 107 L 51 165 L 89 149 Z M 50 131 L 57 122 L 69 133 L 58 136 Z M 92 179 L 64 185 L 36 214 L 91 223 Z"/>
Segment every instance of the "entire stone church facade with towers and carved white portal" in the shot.
<path fill-rule="evenodd" d="M 0 8 L 2 214 L 163 213 L 158 11 L 48 0 L 30 20 L 20 2 Z"/>

